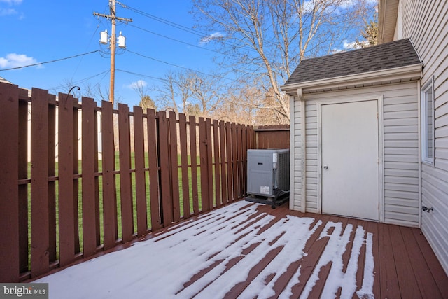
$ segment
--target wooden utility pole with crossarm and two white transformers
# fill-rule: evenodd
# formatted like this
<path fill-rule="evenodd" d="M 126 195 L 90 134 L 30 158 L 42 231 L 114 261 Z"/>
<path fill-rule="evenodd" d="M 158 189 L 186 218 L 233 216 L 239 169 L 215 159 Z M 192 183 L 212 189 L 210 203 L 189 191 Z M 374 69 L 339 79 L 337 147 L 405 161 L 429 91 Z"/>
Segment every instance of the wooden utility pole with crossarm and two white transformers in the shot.
<path fill-rule="evenodd" d="M 123 21 L 123 22 L 132 22 L 132 19 L 127 18 L 119 18 L 116 15 L 116 0 L 109 0 L 109 8 L 110 8 L 110 14 L 104 15 L 104 13 L 95 13 L 93 12 L 93 15 L 97 15 L 98 17 L 103 17 L 106 19 L 111 20 L 111 83 L 110 83 L 110 89 L 109 89 L 109 102 L 112 103 L 113 106 L 113 98 L 115 95 L 115 52 L 116 52 L 116 21 Z M 107 38 L 107 30 L 106 30 L 106 38 Z M 123 38 L 123 39 L 120 39 Z M 104 39 L 104 32 L 102 32 L 100 43 L 107 43 L 107 39 Z M 118 46 L 120 48 L 125 48 L 125 37 L 121 35 L 118 36 Z"/>

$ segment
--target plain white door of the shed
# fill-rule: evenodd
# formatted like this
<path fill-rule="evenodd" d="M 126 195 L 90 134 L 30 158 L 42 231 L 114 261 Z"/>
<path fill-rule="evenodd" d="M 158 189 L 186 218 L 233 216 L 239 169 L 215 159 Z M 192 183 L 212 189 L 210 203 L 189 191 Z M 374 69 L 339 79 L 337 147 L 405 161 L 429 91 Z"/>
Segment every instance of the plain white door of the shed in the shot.
<path fill-rule="evenodd" d="M 322 212 L 379 220 L 377 100 L 321 105 Z"/>

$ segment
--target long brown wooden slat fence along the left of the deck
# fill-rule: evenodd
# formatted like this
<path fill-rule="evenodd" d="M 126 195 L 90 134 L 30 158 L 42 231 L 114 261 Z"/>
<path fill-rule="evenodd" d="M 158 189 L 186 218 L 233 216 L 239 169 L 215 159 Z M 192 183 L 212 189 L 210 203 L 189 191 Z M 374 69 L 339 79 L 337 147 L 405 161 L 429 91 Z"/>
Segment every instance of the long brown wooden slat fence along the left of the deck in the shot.
<path fill-rule="evenodd" d="M 0 83 L 0 281 L 244 197 L 253 139 L 235 123 Z"/>

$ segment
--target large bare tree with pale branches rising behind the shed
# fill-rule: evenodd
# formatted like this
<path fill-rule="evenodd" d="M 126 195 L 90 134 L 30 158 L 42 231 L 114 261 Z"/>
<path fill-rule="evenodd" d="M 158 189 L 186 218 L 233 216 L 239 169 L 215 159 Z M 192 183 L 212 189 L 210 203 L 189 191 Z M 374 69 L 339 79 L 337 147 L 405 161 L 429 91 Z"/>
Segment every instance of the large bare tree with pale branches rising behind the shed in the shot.
<path fill-rule="evenodd" d="M 212 32 L 234 71 L 259 77 L 272 109 L 289 120 L 279 86 L 305 57 L 325 55 L 360 27 L 369 0 L 193 0 L 199 26 Z M 354 36 L 353 39 L 354 40 Z"/>

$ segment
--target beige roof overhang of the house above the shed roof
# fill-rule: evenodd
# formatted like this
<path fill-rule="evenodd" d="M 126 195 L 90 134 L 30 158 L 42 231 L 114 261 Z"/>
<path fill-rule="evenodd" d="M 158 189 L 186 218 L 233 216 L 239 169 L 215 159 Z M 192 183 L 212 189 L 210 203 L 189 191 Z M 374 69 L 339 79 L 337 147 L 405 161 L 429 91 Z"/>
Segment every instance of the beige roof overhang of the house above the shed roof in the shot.
<path fill-rule="evenodd" d="M 378 43 L 393 41 L 398 18 L 400 0 L 378 1 Z"/>

